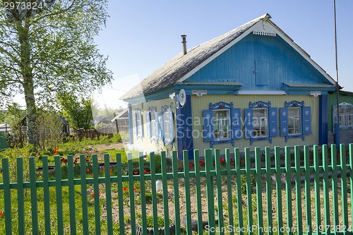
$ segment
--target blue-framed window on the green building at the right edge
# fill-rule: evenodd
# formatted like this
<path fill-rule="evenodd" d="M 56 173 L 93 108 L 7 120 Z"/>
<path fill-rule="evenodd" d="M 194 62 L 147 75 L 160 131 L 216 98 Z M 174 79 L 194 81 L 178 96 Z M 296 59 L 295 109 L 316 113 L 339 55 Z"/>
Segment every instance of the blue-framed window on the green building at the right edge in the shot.
<path fill-rule="evenodd" d="M 353 128 L 353 104 L 342 102 L 339 104 L 340 129 Z M 337 105 L 333 106 L 333 126 L 337 123 Z"/>

